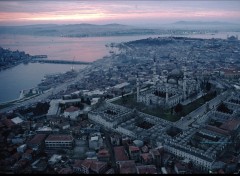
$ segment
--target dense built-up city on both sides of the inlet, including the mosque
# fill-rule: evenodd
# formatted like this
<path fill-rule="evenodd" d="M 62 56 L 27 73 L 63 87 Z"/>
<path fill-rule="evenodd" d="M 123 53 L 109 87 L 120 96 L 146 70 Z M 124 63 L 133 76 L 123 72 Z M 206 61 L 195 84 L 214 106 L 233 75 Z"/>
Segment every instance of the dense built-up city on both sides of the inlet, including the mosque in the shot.
<path fill-rule="evenodd" d="M 0 106 L 1 173 L 239 173 L 238 36 L 107 47 Z"/>

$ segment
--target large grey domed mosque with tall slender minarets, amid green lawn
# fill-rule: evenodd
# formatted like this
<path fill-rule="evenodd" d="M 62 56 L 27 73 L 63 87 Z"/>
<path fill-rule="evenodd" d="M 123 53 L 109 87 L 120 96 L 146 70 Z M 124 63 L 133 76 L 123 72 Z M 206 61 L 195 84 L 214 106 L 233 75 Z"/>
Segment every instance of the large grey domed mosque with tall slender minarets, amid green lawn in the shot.
<path fill-rule="evenodd" d="M 185 66 L 182 70 L 174 69 L 165 75 L 163 73 L 157 75 L 155 57 L 153 60 L 153 86 L 150 89 L 140 91 L 140 82 L 137 75 L 137 102 L 171 108 L 184 102 L 191 95 L 200 93 L 200 81 L 188 74 Z"/>

